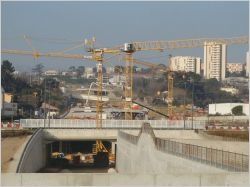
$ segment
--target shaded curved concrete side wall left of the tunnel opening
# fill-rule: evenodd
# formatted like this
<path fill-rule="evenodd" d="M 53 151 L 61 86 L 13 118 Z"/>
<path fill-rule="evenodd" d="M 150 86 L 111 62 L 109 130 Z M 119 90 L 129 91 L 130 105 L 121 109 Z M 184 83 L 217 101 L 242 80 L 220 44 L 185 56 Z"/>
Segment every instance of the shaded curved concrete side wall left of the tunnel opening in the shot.
<path fill-rule="evenodd" d="M 35 173 L 46 164 L 46 147 L 43 143 L 43 130 L 38 130 L 27 144 L 20 160 L 20 173 Z"/>

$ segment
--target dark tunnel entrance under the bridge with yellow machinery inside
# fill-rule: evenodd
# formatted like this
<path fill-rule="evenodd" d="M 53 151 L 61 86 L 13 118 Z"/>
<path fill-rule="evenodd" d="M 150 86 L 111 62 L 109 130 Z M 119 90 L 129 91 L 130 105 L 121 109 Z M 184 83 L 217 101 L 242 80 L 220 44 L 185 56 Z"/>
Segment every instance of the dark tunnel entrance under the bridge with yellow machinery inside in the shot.
<path fill-rule="evenodd" d="M 114 141 L 102 141 L 107 152 L 96 152 L 96 141 L 53 141 L 46 144 L 46 167 L 39 173 L 107 172 L 115 167 Z"/>

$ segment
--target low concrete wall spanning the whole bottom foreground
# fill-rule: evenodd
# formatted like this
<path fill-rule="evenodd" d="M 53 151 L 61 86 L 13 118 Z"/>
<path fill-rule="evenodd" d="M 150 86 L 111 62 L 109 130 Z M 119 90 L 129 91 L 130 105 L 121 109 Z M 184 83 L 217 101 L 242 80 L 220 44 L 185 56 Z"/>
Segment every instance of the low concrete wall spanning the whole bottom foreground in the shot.
<path fill-rule="evenodd" d="M 1 178 L 2 186 L 249 186 L 248 173 L 13 173 Z"/>

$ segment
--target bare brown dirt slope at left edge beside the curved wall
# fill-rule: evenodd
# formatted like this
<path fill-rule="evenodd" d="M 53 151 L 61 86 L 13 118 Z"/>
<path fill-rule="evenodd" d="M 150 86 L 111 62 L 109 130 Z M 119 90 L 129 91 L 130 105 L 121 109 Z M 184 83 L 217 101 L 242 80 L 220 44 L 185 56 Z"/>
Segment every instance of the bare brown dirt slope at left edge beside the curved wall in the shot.
<path fill-rule="evenodd" d="M 25 142 L 27 136 L 1 138 L 1 171 L 7 172 L 15 153 Z"/>

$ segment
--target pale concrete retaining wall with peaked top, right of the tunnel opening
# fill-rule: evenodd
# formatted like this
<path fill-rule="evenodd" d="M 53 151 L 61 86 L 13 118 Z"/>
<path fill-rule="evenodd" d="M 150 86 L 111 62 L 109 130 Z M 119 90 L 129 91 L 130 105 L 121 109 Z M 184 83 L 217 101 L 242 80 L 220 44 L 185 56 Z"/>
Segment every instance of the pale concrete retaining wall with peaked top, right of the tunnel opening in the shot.
<path fill-rule="evenodd" d="M 116 169 L 122 174 L 215 173 L 226 171 L 166 154 L 155 148 L 152 137 L 142 133 L 137 145 L 118 137 Z"/>

